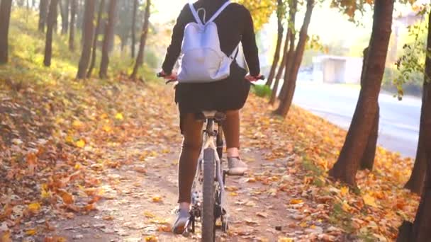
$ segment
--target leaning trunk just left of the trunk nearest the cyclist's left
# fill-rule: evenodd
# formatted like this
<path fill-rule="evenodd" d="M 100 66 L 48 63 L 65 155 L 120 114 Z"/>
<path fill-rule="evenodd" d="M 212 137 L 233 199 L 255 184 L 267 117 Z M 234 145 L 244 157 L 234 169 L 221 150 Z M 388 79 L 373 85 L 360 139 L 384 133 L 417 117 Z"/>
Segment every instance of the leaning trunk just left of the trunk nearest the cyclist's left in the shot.
<path fill-rule="evenodd" d="M 113 26 L 115 23 L 117 0 L 109 1 L 109 12 L 108 12 L 108 23 L 106 23 L 105 33 L 103 35 L 103 46 L 102 46 L 102 59 L 99 70 L 99 77 L 108 77 L 108 64 L 109 64 L 109 44 L 113 36 Z"/>

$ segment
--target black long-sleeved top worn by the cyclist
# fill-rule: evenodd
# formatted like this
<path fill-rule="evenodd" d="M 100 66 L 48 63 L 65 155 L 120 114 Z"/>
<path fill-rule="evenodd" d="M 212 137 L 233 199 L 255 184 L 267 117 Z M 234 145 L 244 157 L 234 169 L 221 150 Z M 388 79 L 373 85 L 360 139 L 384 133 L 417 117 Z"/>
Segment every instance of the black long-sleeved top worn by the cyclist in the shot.
<path fill-rule="evenodd" d="M 227 0 L 198 0 L 194 3 L 194 7 L 196 8 L 196 11 L 199 8 L 205 9 L 206 20 L 203 20 L 203 11 L 198 11 L 201 21 L 205 23 L 205 21 L 209 20 L 226 1 Z M 162 69 L 167 74 L 172 72 L 174 64 L 177 62 L 179 54 L 181 53 L 184 28 L 191 22 L 196 21 L 191 13 L 189 4 L 186 4 L 177 18 L 177 23 L 175 24 L 172 33 L 172 42 L 167 48 L 167 54 L 163 62 Z M 214 23 L 218 28 L 221 50 L 230 56 L 237 45 L 242 42 L 245 60 L 250 69 L 250 74 L 252 76 L 259 75 L 259 57 L 250 11 L 240 4 L 233 3 L 225 8 L 217 18 L 215 18 Z"/>

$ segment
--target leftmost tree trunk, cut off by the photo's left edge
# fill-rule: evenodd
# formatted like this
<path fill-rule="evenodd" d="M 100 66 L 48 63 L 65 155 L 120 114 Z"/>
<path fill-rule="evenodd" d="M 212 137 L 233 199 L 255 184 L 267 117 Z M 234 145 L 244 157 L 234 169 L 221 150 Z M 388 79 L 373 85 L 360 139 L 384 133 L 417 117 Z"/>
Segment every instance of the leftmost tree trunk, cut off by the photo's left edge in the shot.
<path fill-rule="evenodd" d="M 9 21 L 11 21 L 12 0 L 2 0 L 0 3 L 0 64 L 8 62 Z"/>

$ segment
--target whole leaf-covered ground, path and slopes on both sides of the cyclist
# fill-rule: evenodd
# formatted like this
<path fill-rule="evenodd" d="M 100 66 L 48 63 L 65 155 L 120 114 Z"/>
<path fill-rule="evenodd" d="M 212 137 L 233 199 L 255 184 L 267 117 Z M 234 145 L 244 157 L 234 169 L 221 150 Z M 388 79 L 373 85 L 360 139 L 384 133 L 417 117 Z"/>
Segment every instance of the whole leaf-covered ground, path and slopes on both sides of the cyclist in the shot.
<path fill-rule="evenodd" d="M 77 53 L 60 51 L 61 36 L 42 67 L 44 37 L 26 16 L 13 12 L 11 63 L 0 66 L 0 241 L 199 238 L 169 233 L 181 144 L 172 86 L 121 74 L 74 81 Z M 127 68 L 111 62 L 111 73 Z M 241 137 L 250 173 L 228 178 L 220 240 L 393 241 L 418 206 L 403 189 L 413 161 L 379 148 L 360 191 L 349 190 L 327 178 L 345 134 L 296 107 L 282 120 L 251 94 Z"/>

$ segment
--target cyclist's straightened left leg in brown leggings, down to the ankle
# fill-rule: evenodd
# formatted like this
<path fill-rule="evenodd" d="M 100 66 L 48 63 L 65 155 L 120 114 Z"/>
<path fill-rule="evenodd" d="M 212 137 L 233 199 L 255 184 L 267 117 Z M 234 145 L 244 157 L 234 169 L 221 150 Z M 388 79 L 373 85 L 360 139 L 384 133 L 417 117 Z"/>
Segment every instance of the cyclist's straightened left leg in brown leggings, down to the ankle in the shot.
<path fill-rule="evenodd" d="M 203 121 L 196 120 L 193 113 L 186 113 L 181 116 L 181 130 L 184 139 L 179 156 L 178 202 L 180 208 L 188 209 L 191 200 L 191 186 L 202 146 Z"/>

